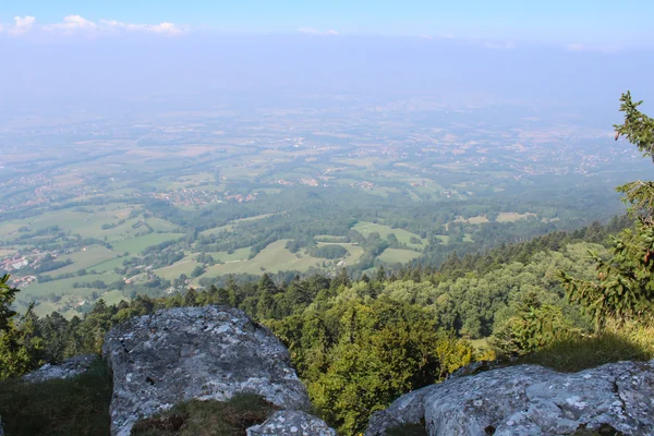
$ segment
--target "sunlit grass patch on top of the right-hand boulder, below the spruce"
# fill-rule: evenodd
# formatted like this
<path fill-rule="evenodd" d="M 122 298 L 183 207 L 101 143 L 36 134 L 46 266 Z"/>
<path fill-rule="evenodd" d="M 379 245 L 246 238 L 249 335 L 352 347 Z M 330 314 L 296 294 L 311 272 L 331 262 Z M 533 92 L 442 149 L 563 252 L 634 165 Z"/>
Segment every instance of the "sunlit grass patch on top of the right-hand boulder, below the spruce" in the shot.
<path fill-rule="evenodd" d="M 606 330 L 589 337 L 564 339 L 520 359 L 557 371 L 578 372 L 620 361 L 654 359 L 654 325 L 611 323 Z"/>

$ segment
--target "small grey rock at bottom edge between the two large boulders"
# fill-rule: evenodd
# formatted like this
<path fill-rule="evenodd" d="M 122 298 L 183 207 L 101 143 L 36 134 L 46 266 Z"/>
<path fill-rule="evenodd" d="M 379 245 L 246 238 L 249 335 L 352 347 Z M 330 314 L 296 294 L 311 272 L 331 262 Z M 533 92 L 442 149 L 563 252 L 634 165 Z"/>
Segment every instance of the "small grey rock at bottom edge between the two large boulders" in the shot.
<path fill-rule="evenodd" d="M 325 422 L 299 410 L 276 412 L 261 425 L 247 428 L 247 436 L 336 436 Z"/>

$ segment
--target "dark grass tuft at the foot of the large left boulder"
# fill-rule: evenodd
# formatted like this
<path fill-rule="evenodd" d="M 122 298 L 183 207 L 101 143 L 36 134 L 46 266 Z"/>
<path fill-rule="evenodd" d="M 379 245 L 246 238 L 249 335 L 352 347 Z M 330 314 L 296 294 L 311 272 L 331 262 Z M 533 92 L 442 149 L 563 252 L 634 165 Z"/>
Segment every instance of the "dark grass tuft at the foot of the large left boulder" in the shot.
<path fill-rule="evenodd" d="M 240 393 L 229 401 L 191 400 L 167 412 L 141 420 L 133 436 L 245 436 L 245 429 L 261 424 L 277 408 L 253 393 Z"/>

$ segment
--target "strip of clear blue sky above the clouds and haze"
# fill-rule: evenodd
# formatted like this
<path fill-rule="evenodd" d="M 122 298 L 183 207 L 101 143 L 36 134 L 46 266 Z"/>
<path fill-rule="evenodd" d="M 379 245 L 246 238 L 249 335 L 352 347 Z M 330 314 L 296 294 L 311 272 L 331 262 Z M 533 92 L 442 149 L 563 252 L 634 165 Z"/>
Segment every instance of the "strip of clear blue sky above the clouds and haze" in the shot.
<path fill-rule="evenodd" d="M 161 22 L 189 31 L 433 35 L 567 44 L 642 45 L 654 40 L 647 0 L 2 0 L 0 23 L 36 25 L 80 15 L 92 22 Z"/>

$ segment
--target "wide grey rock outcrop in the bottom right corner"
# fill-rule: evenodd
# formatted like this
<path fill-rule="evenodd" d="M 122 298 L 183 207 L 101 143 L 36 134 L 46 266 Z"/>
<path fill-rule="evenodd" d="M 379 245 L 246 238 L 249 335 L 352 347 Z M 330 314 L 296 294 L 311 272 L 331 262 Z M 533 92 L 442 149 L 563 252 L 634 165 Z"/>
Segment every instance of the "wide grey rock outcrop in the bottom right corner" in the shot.
<path fill-rule="evenodd" d="M 620 362 L 576 374 L 520 365 L 452 377 L 375 413 L 366 436 L 425 422 L 431 436 L 566 435 L 615 429 L 654 435 L 654 361 Z"/>

